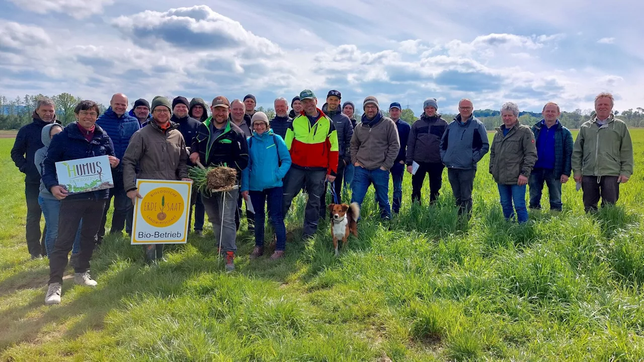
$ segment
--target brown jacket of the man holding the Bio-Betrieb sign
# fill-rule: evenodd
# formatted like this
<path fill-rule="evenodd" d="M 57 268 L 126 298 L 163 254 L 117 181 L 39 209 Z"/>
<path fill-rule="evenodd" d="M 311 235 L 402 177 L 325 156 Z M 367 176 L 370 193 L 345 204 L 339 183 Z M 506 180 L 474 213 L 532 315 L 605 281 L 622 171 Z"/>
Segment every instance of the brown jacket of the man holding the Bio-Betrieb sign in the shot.
<path fill-rule="evenodd" d="M 164 131 L 155 121 L 149 122 L 132 136 L 123 156 L 124 189 L 137 189 L 137 178 L 181 180 L 188 176 L 187 159 L 185 140 L 177 124 L 171 123 Z"/>

